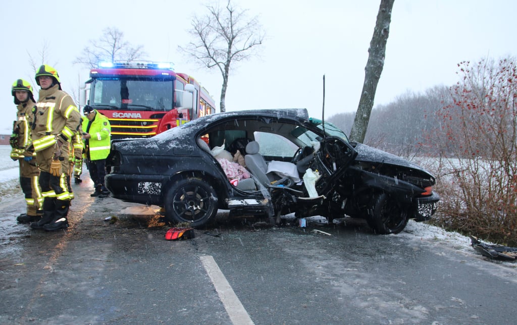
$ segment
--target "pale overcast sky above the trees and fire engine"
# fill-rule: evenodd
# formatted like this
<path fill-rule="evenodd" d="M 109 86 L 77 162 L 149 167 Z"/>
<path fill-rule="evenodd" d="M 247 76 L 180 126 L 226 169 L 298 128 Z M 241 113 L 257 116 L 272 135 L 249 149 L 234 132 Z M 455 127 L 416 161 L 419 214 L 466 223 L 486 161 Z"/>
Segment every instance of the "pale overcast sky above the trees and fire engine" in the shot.
<path fill-rule="evenodd" d="M 206 12 L 206 1 L 62 1 L 26 0 L 3 3 L 3 103 L 0 133 L 11 132 L 16 118 L 10 88 L 23 78 L 36 89 L 29 53 L 57 69 L 63 89 L 78 91 L 88 70 L 74 58 L 106 27 L 116 27 L 132 45 L 143 45 L 148 59 L 172 61 L 214 97 L 219 112 L 222 79 L 178 53 L 189 41 L 194 14 Z M 221 4 L 224 4 L 223 1 Z M 306 107 L 311 116 L 354 112 L 364 81 L 364 66 L 380 0 L 232 0 L 258 16 L 266 32 L 260 58 L 233 66 L 226 110 Z M 517 2 L 511 0 L 395 0 L 384 70 L 375 105 L 388 104 L 407 91 L 423 92 L 457 82 L 457 64 L 483 57 L 499 59 L 517 53 Z M 36 91 L 37 92 L 37 91 Z M 38 98 L 35 94 L 36 99 Z"/>

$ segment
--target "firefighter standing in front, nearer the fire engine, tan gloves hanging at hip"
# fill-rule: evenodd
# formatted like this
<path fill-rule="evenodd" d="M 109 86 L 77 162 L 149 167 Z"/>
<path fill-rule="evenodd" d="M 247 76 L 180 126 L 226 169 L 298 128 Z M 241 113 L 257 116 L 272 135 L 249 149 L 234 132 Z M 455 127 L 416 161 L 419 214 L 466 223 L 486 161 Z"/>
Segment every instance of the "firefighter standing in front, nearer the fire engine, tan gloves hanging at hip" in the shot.
<path fill-rule="evenodd" d="M 31 223 L 31 228 L 51 231 L 68 227 L 70 193 L 63 165 L 68 165 L 69 143 L 79 130 L 81 113 L 70 95 L 61 89 L 54 68 L 42 65 L 35 79 L 41 89 L 34 112 L 33 142 L 24 154 L 31 156 L 36 152 L 43 215 L 40 221 Z"/>

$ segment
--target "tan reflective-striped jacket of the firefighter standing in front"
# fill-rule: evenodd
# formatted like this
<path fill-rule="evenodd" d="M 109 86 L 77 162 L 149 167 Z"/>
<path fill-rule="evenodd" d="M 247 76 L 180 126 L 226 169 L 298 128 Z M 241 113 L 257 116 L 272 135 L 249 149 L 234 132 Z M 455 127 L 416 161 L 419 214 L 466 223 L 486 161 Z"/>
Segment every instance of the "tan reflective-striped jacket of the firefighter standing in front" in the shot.
<path fill-rule="evenodd" d="M 81 123 L 77 106 L 57 84 L 39 91 L 35 115 L 32 140 L 36 152 L 54 146 L 57 136 L 69 142 Z"/>

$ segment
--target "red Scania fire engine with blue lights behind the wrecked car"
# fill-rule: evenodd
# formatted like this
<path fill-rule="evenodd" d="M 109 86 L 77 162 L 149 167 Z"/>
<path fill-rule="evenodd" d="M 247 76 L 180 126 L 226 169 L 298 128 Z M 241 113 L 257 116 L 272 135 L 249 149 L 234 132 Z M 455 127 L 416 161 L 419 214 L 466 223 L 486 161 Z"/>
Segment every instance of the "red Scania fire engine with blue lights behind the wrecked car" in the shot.
<path fill-rule="evenodd" d="M 108 117 L 113 139 L 151 137 L 215 112 L 208 91 L 171 63 L 100 63 L 84 90 L 81 102 Z"/>

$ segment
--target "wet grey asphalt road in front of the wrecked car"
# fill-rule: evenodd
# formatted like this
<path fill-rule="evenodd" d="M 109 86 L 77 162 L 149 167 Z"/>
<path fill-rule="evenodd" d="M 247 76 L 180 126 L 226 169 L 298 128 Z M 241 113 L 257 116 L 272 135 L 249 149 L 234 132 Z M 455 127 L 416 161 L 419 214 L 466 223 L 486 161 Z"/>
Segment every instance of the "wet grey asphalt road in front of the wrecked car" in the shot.
<path fill-rule="evenodd" d="M 16 224 L 0 202 L 2 324 L 514 324 L 517 268 L 361 222 L 267 227 L 228 220 L 166 241 L 152 209 L 92 198 L 66 231 Z M 116 222 L 104 221 L 112 217 Z M 331 236 L 314 233 L 318 229 Z M 212 235 L 205 234 L 209 230 Z"/>

